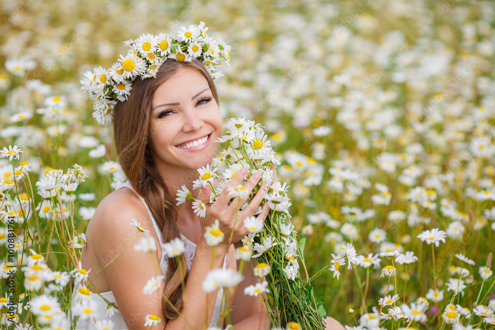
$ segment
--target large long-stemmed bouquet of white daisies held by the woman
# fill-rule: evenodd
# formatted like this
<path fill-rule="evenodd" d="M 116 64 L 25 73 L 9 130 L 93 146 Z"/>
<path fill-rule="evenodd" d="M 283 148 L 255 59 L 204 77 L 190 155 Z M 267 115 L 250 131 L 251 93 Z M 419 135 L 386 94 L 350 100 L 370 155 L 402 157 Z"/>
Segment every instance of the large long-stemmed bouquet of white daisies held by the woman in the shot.
<path fill-rule="evenodd" d="M 258 185 L 251 192 L 247 202 L 239 205 L 242 210 L 261 187 L 273 180 L 270 167 L 273 164 L 279 165 L 280 161 L 277 160 L 274 150 L 270 147 L 270 141 L 259 124 L 244 118 L 231 118 L 225 126 L 227 134 L 218 141 L 225 143 L 227 149 L 223 149 L 213 158 L 211 166 L 208 164 L 198 169 L 200 178 L 194 181 L 193 187 L 209 185 L 210 203 L 213 203 L 245 165 L 249 165 L 250 174 L 261 170 L 262 176 Z M 218 180 L 214 182 L 213 179 Z M 242 189 L 242 186 L 240 188 Z M 286 183 L 274 182 L 266 191 L 262 204 L 268 203 L 270 211 L 264 224 L 256 221 L 255 217 L 242 219 L 250 233 L 242 239 L 243 247 L 238 248 L 236 255 L 239 256 L 238 259 L 247 255 L 254 275 L 260 279 L 259 287 L 253 289 L 263 295 L 272 327 L 325 329 L 325 309 L 321 304 L 316 304 L 311 285 L 300 277 L 298 259 L 304 263 L 302 252 L 305 239 L 297 242 L 297 232 L 294 231 L 289 214 L 292 203 L 287 196 L 288 188 Z M 179 203 L 192 198 L 189 191 L 179 190 L 178 196 Z M 194 200 L 192 207 L 199 216 L 204 216 L 205 205 L 200 200 Z M 261 208 L 262 205 L 255 214 L 261 213 Z M 339 256 L 340 259 L 345 258 L 344 255 Z"/>

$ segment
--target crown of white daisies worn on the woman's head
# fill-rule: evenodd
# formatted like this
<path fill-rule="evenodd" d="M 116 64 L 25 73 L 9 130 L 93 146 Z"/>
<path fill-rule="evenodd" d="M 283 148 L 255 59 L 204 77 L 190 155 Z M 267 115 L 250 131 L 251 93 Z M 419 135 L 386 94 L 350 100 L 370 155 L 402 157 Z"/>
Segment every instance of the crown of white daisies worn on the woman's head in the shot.
<path fill-rule="evenodd" d="M 101 66 L 87 71 L 81 80 L 81 90 L 89 94 L 94 105 L 93 117 L 101 125 L 109 126 L 113 121 L 113 109 L 117 101 L 125 101 L 137 77 L 155 78 L 156 72 L 165 60 L 172 58 L 181 62 L 199 59 L 213 81 L 222 74 L 222 62 L 229 65 L 231 47 L 223 41 L 206 36 L 204 22 L 199 25 L 181 27 L 174 34 L 160 33 L 157 36 L 142 35 L 136 40 L 127 40 L 130 47 L 125 56 L 120 55 L 110 69 Z"/>

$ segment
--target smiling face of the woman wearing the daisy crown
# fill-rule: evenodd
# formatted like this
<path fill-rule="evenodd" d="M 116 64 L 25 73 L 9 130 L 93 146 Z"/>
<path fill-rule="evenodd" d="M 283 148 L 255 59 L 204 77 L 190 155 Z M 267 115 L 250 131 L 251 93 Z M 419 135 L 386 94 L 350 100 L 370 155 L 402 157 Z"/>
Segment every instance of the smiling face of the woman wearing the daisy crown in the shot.
<path fill-rule="evenodd" d="M 196 170 L 215 157 L 222 117 L 206 78 L 180 69 L 153 94 L 148 144 L 155 165 L 169 176 Z"/>

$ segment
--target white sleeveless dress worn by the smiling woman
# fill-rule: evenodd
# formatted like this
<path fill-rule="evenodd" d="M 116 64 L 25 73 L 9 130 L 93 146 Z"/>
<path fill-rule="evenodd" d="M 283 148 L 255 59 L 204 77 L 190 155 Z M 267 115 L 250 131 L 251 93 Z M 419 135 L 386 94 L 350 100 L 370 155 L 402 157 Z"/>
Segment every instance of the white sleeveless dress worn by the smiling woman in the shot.
<path fill-rule="evenodd" d="M 149 208 L 148 208 L 148 205 L 146 204 L 145 199 L 143 197 L 141 197 L 136 192 L 136 190 L 134 190 L 131 187 L 131 184 L 128 181 L 126 181 L 122 187 L 128 187 L 128 188 L 132 189 L 132 191 L 134 191 L 136 193 L 136 195 L 138 195 L 139 199 L 143 202 L 143 204 L 145 204 L 146 209 L 148 210 L 149 217 L 151 218 L 151 221 L 153 222 L 153 227 L 154 227 L 154 229 L 156 231 L 156 236 L 158 236 L 158 239 L 160 240 L 160 243 L 163 243 L 163 237 L 162 237 L 161 231 L 160 231 L 158 225 L 156 224 L 156 221 L 153 218 L 153 215 L 149 211 Z M 120 187 L 120 188 L 122 188 L 122 187 Z M 184 241 L 184 244 L 185 244 L 185 247 L 186 247 L 186 250 L 185 250 L 184 253 L 186 255 L 188 270 L 190 270 L 191 269 L 191 265 L 193 263 L 194 253 L 196 252 L 196 244 L 193 243 L 192 241 L 190 241 L 189 239 L 187 239 L 182 234 L 181 234 L 181 239 Z M 226 267 L 227 267 L 227 262 L 228 262 L 228 255 L 225 256 L 225 260 L 224 260 L 224 263 L 223 263 L 223 268 L 224 269 L 226 269 Z M 162 275 L 163 276 L 165 276 L 165 274 L 167 273 L 167 267 L 168 267 L 167 254 L 166 254 L 165 251 L 162 250 L 162 252 L 161 252 L 161 260 L 160 260 L 160 268 L 161 268 L 161 271 L 162 271 Z M 76 283 L 74 285 L 75 285 L 74 287 L 77 287 L 78 282 L 76 281 Z M 75 291 L 76 290 L 74 289 L 74 292 Z M 221 288 L 218 290 L 216 301 L 215 301 L 215 308 L 213 309 L 213 316 L 211 317 L 210 327 L 214 327 L 216 325 L 216 322 L 218 321 L 218 318 L 220 316 L 220 304 L 221 304 L 221 301 L 222 301 L 221 300 L 221 297 L 222 297 L 222 294 L 223 294 L 222 291 L 223 290 Z M 112 291 L 100 292 L 100 294 L 106 300 L 108 300 L 108 301 L 110 301 L 112 303 L 115 303 L 115 305 L 117 305 L 116 304 L 116 301 L 115 301 L 115 297 L 113 296 L 113 292 Z M 127 330 L 127 326 L 124 323 L 124 319 L 122 318 L 122 315 L 118 311 L 115 312 L 115 314 L 113 316 L 111 316 L 111 317 L 107 317 L 106 316 L 106 307 L 107 307 L 107 304 L 96 293 L 93 293 L 93 302 L 95 303 L 95 306 L 96 306 L 96 308 L 95 308 L 96 312 L 94 314 L 96 321 L 110 320 L 114 324 L 114 327 L 113 327 L 114 330 Z M 72 300 L 72 304 L 73 305 L 75 304 L 74 299 Z M 222 310 L 224 308 L 225 308 L 225 306 L 222 306 Z M 72 309 L 72 310 L 74 310 L 74 309 Z M 200 311 L 198 311 L 198 312 L 200 312 Z M 202 311 L 202 312 L 204 312 L 204 311 Z M 220 325 L 220 326 L 222 326 L 222 325 Z M 93 318 L 91 318 L 89 320 L 79 320 L 77 322 L 76 329 L 95 330 L 96 329 L 96 327 L 95 327 L 95 321 L 94 321 Z"/>

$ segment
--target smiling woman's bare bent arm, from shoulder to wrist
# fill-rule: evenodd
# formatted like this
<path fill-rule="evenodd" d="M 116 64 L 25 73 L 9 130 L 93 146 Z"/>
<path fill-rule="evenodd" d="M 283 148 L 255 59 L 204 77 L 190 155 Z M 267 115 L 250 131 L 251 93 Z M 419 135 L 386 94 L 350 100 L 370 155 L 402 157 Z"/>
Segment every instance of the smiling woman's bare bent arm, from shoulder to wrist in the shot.
<path fill-rule="evenodd" d="M 92 240 L 98 244 L 95 248 L 98 251 L 101 267 L 129 244 L 103 271 L 127 327 L 149 329 L 145 327 L 147 314 L 156 315 L 161 319 L 161 323 L 153 329 L 165 329 L 165 326 L 166 329 L 202 329 L 205 323 L 209 325 L 215 305 L 216 291 L 211 292 L 207 297 L 202 289 L 202 282 L 210 267 L 211 247 L 207 246 L 202 238 L 199 239 L 185 286 L 186 300 L 183 311 L 177 319 L 169 320 L 167 323 L 163 313 L 161 292 L 153 292 L 151 295 L 143 293 L 143 288 L 151 277 L 162 275 L 158 257 L 155 252 L 134 250 L 134 246 L 144 237 L 143 233 L 139 233 L 131 243 L 138 232 L 136 227 L 130 224 L 132 218 L 140 222 L 142 227 L 150 232 L 150 235 L 155 236 L 148 213 L 137 212 L 135 206 L 131 204 L 113 205 L 107 207 L 102 213 L 95 214 L 94 218 L 104 219 L 104 221 L 98 221 L 99 230 L 95 231 L 96 235 L 92 237 Z M 159 244 L 157 248 L 161 249 Z M 215 252 L 213 267 L 221 268 L 227 250 L 218 247 Z M 94 269 L 90 274 L 95 276 L 98 271 Z M 92 278 L 94 277 L 90 277 Z M 161 291 L 164 287 L 165 283 L 162 281 Z M 208 315 L 198 313 L 198 311 L 205 311 L 206 305 L 211 306 L 208 308 Z"/>

